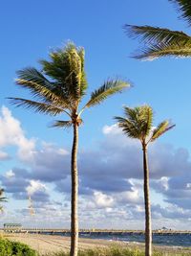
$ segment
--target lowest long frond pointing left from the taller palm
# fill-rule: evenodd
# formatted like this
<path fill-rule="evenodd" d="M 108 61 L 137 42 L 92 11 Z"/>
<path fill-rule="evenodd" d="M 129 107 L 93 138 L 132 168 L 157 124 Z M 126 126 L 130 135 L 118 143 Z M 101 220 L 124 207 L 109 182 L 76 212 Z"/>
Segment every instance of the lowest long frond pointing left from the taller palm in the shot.
<path fill-rule="evenodd" d="M 44 103 L 37 103 L 30 100 L 22 99 L 22 98 L 8 98 L 12 105 L 16 106 L 24 106 L 25 108 L 33 109 L 35 112 L 45 113 L 50 115 L 57 115 L 64 111 L 64 109 L 59 108 L 54 105 L 48 105 Z"/>

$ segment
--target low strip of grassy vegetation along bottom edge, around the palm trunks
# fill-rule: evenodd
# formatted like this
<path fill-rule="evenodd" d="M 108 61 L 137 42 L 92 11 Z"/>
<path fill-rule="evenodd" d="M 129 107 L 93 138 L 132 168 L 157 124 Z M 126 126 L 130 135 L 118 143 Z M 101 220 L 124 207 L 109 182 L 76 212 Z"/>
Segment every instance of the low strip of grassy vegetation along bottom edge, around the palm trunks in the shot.
<path fill-rule="evenodd" d="M 130 249 L 124 247 L 110 247 L 110 248 L 102 248 L 102 249 L 87 249 L 87 250 L 79 250 L 78 256 L 144 256 L 144 251 L 140 249 Z M 187 253 L 179 253 L 179 252 L 159 252 L 154 251 L 153 256 L 188 256 Z M 46 254 L 43 256 L 70 256 L 69 252 L 58 252 L 53 254 Z"/>

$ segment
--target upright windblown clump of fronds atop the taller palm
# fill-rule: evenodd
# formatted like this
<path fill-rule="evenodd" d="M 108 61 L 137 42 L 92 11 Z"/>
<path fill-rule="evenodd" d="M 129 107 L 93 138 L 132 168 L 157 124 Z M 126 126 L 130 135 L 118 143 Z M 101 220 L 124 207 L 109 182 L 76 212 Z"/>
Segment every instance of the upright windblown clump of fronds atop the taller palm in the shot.
<path fill-rule="evenodd" d="M 50 54 L 51 60 L 40 60 L 43 71 L 53 81 L 58 81 L 66 95 L 80 102 L 87 89 L 84 71 L 84 50 L 69 43 L 64 49 Z"/>

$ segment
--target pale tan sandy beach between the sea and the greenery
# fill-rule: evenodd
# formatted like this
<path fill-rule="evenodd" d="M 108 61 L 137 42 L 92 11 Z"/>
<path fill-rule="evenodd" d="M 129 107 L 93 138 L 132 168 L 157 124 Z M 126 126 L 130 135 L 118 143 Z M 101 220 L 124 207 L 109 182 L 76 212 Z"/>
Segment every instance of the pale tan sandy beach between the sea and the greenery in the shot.
<path fill-rule="evenodd" d="M 36 234 L 8 234 L 7 238 L 11 241 L 21 242 L 30 245 L 40 255 L 51 252 L 66 251 L 70 249 L 70 238 L 62 236 L 52 235 L 36 235 Z M 143 247 L 144 244 L 134 243 L 123 243 L 96 239 L 79 239 L 79 249 L 88 249 L 94 247 L 104 247 L 111 245 L 122 245 L 128 247 Z M 179 246 L 157 246 L 154 245 L 155 249 L 159 251 L 171 252 L 172 255 L 177 253 L 185 253 L 185 255 L 191 255 L 191 249 L 179 247 Z"/>

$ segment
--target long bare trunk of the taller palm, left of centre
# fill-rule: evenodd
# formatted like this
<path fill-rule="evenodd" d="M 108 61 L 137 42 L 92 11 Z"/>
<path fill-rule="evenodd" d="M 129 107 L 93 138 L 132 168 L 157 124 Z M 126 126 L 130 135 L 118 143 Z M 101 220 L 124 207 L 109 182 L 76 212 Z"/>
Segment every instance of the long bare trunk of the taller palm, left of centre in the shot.
<path fill-rule="evenodd" d="M 78 249 L 78 175 L 77 175 L 77 149 L 78 149 L 78 126 L 74 124 L 74 140 L 71 158 L 72 198 L 71 198 L 71 252 L 70 256 L 77 256 Z"/>

